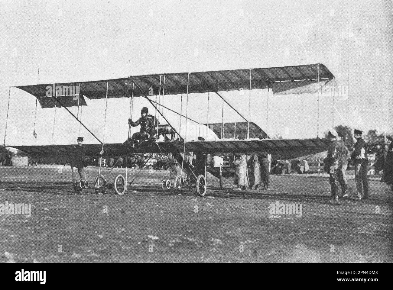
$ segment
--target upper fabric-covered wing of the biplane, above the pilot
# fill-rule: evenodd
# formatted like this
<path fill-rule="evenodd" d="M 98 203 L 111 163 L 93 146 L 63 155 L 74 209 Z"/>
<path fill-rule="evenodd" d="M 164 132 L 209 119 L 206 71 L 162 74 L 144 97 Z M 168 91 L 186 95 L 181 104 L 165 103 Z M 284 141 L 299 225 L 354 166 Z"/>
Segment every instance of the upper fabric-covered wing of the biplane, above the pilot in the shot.
<path fill-rule="evenodd" d="M 188 93 L 206 93 L 233 91 L 251 86 L 255 88 L 271 88 L 273 94 L 313 93 L 321 86 L 334 79 L 334 75 L 323 64 L 303 64 L 298 66 L 281 66 L 274 68 L 253 68 L 239 70 L 220 70 L 209 72 L 159 73 L 152 75 L 134 75 L 119 79 L 108 79 L 87 82 L 71 82 L 56 84 L 35 84 L 16 86 L 34 95 L 42 108 L 53 108 L 55 98 L 48 97 L 48 90 L 59 89 L 55 94 L 64 106 L 80 105 L 77 98 L 70 98 L 68 88 L 78 88 L 78 93 L 88 99 L 105 99 L 149 95 L 159 92 L 165 76 L 165 92 L 167 95 Z M 317 86 L 316 79 L 320 79 Z M 139 88 L 133 87 L 133 81 Z M 108 88 L 108 94 L 107 94 Z M 67 90 L 66 90 L 67 89 Z M 68 98 L 68 99 L 67 99 Z M 73 102 L 70 99 L 74 99 Z M 76 101 L 75 101 L 76 99 Z M 68 101 L 68 103 L 66 103 Z M 82 98 L 84 102 L 84 98 Z M 85 105 L 85 103 L 83 103 Z"/>

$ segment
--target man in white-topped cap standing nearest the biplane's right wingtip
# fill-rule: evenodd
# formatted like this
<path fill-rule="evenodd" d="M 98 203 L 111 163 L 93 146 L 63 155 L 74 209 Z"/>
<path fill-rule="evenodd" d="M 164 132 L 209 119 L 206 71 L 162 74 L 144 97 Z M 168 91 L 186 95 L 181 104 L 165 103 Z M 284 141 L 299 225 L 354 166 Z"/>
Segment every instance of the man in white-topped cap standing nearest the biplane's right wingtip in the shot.
<path fill-rule="evenodd" d="M 330 139 L 329 149 L 327 150 L 327 157 L 323 162 L 325 163 L 325 170 L 329 171 L 332 200 L 338 201 L 338 164 L 341 159 L 342 145 L 337 141 L 338 134 L 336 130 L 331 129 L 328 133 L 328 138 Z"/>

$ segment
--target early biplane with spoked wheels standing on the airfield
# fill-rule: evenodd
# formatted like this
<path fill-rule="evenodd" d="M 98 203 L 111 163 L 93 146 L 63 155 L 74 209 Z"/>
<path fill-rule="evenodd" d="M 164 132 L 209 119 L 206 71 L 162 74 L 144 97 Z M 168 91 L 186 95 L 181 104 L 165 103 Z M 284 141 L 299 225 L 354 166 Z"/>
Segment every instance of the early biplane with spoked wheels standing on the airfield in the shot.
<path fill-rule="evenodd" d="M 15 86 L 37 98 L 41 108 L 64 108 L 67 110 L 94 138 L 98 141 L 95 144 L 86 144 L 86 155 L 105 158 L 110 156 L 131 156 L 135 154 L 169 154 L 174 156 L 173 162 L 178 162 L 181 166 L 181 173 L 185 172 L 189 176 L 191 185 L 195 186 L 198 195 L 205 195 L 207 189 L 207 172 L 218 178 L 222 177 L 222 168 L 209 166 L 207 156 L 228 156 L 229 154 L 257 154 L 259 152 L 268 152 L 273 158 L 292 159 L 310 154 L 316 154 L 327 150 L 327 143 L 318 138 L 310 139 L 271 139 L 259 128 L 255 122 L 248 117 L 244 117 L 228 100 L 222 97 L 221 92 L 268 89 L 272 90 L 273 95 L 319 93 L 323 86 L 334 85 L 334 75 L 323 64 L 308 64 L 298 66 L 283 66 L 273 68 L 253 68 L 239 70 L 221 70 L 209 72 L 188 72 L 188 73 L 162 73 L 151 75 L 131 75 L 119 79 L 107 79 L 99 81 L 55 83 L 55 84 L 35 84 Z M 71 88 L 77 86 L 79 91 L 74 92 Z M 51 89 L 53 88 L 53 90 Z M 64 88 L 69 88 L 68 92 Z M 49 94 L 48 94 L 49 92 Z M 71 94 L 70 94 L 71 92 Z M 208 112 L 206 120 L 194 120 L 188 116 L 188 98 L 190 94 L 200 94 L 200 98 L 205 97 L 204 101 L 208 103 Z M 224 102 L 239 116 L 244 119 L 242 122 L 209 123 L 209 98 L 214 94 Z M 9 90 L 9 98 L 11 87 Z M 180 96 L 180 112 L 164 106 L 160 99 L 165 96 L 170 99 L 171 96 Z M 319 94 L 318 94 L 319 96 Z M 134 101 L 137 98 L 143 98 L 155 110 L 154 128 L 150 135 L 149 142 L 127 145 L 126 143 L 105 143 L 105 134 L 103 139 L 97 138 L 92 131 L 87 128 L 79 116 L 75 116 L 70 111 L 73 106 L 86 106 L 86 100 L 108 98 L 129 98 L 130 99 L 130 116 Z M 157 101 L 158 98 L 158 101 Z M 186 103 L 185 112 L 182 112 L 183 102 Z M 318 97 L 319 102 L 319 97 Z M 107 106 L 107 103 L 106 105 Z M 179 126 L 171 124 L 163 114 L 163 108 L 180 116 Z M 9 109 L 9 101 L 8 101 Z M 250 102 L 248 104 L 250 113 Z M 319 103 L 318 103 L 319 110 Z M 7 111 L 8 112 L 8 111 Z M 160 122 L 161 119 L 161 122 Z M 7 114 L 8 120 L 8 114 Z M 182 124 L 182 120 L 184 123 Z M 106 121 L 106 107 L 105 107 Z M 255 121 L 255 120 L 254 120 Z M 187 123 L 193 122 L 201 127 L 205 127 L 204 133 L 199 133 L 198 139 L 189 140 L 184 133 Z M 317 126 L 319 128 L 319 112 Z M 183 129 L 183 130 L 182 130 Z M 214 138 L 208 138 L 207 132 L 212 133 Z M 318 130 L 317 130 L 318 132 Z M 45 156 L 64 156 L 67 158 L 73 145 L 18 145 L 6 144 L 6 133 L 4 136 L 4 146 L 14 147 L 26 152 L 33 158 Z M 206 134 L 206 136 L 205 136 Z M 241 134 L 242 136 L 239 136 Z M 130 127 L 128 138 L 130 138 Z M 125 138 L 126 139 L 126 138 Z M 104 153 L 99 156 L 100 151 Z M 194 165 L 185 162 L 186 152 L 196 154 Z M 150 158 L 147 158 L 149 160 Z M 233 171 L 231 171 L 233 172 Z M 227 173 L 228 174 L 228 173 Z M 126 176 L 122 174 L 116 176 L 113 187 L 118 194 L 123 194 L 127 190 L 127 168 Z M 182 178 L 176 177 L 176 188 L 181 187 Z M 168 184 L 169 182 L 169 184 Z M 94 187 L 96 192 L 104 188 L 106 184 L 105 177 L 101 175 L 101 162 L 99 163 L 99 173 L 95 179 Z M 171 182 L 163 180 L 163 187 L 170 188 Z M 190 187 L 191 188 L 191 187 Z"/>

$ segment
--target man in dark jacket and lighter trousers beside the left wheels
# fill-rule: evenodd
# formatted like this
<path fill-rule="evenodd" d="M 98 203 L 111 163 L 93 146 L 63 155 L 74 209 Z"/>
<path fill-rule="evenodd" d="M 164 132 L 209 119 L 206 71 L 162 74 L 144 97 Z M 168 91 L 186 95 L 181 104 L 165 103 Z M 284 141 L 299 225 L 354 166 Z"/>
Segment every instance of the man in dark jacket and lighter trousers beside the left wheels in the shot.
<path fill-rule="evenodd" d="M 75 193 L 80 193 L 82 189 L 78 183 L 82 182 L 82 184 L 84 184 L 84 182 L 86 181 L 86 167 L 84 167 L 86 149 L 83 146 L 83 137 L 78 137 L 77 141 L 78 145 L 75 145 L 72 149 L 72 154 L 70 156 L 70 165 L 72 168 L 72 183 Z"/>

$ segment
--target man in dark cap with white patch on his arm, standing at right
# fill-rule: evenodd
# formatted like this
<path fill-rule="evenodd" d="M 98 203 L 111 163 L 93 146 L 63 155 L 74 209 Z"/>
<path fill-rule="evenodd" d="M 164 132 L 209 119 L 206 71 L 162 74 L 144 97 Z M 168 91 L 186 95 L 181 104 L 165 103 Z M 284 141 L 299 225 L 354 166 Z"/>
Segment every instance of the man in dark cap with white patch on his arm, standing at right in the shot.
<path fill-rule="evenodd" d="M 354 138 L 357 140 L 354 145 L 354 151 L 351 159 L 355 164 L 355 180 L 356 191 L 359 199 L 367 199 L 369 194 L 368 180 L 367 180 L 367 145 L 362 138 L 363 131 L 355 129 L 353 132 Z M 362 196 L 363 194 L 363 196 Z"/>

